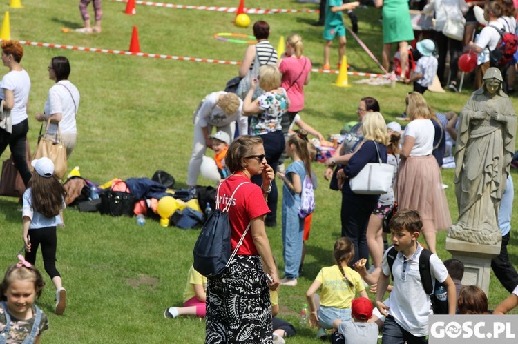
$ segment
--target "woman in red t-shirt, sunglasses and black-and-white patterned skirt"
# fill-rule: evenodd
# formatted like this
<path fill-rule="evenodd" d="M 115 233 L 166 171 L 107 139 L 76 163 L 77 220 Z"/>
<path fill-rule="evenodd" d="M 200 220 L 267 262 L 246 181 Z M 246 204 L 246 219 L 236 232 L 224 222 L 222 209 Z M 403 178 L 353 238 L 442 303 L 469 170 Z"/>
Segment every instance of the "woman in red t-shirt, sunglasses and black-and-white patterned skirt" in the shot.
<path fill-rule="evenodd" d="M 230 204 L 232 251 L 249 224 L 250 230 L 227 269 L 207 279 L 205 343 L 265 343 L 273 332 L 269 290 L 279 285 L 265 231 L 274 169 L 266 161 L 260 136 L 239 136 L 231 143 L 225 163 L 232 174 L 220 184 L 216 203 L 220 210 Z M 254 175 L 262 176 L 261 187 L 251 183 Z"/>

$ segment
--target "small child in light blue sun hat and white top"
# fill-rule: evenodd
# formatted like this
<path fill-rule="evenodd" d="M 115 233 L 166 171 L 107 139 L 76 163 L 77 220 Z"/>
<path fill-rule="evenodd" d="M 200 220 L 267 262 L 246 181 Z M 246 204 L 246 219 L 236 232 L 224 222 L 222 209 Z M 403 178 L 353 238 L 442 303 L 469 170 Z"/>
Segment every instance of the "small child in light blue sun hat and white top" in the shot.
<path fill-rule="evenodd" d="M 410 74 L 407 83 L 414 83 L 414 92 L 423 94 L 428 90 L 428 86 L 432 85 L 434 77 L 437 74 L 437 65 L 439 62 L 434 56 L 435 43 L 431 39 L 423 39 L 416 44 L 421 58 L 417 60 L 416 69 Z"/>

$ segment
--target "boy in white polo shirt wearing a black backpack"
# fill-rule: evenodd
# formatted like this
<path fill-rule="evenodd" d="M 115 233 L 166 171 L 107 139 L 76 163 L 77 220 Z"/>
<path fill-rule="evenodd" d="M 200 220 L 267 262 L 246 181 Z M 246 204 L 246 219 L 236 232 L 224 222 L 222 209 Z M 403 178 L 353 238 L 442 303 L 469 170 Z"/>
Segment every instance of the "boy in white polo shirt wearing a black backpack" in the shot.
<path fill-rule="evenodd" d="M 421 216 L 415 210 L 400 210 L 390 221 L 392 244 L 397 251 L 390 271 L 387 254 L 383 255 L 383 271 L 378 279 L 376 307 L 386 316 L 382 344 L 428 343 L 428 316 L 433 314 L 430 295 L 426 294 L 419 272 L 419 256 L 425 250 L 418 242 L 423 227 Z M 432 281 L 443 283 L 448 296 L 457 294 L 448 270 L 436 254 L 430 256 Z M 390 281 L 394 287 L 390 293 L 390 307 L 383 303 L 383 296 Z M 455 314 L 456 297 L 448 297 L 448 314 Z M 426 305 L 423 307 L 423 305 Z"/>

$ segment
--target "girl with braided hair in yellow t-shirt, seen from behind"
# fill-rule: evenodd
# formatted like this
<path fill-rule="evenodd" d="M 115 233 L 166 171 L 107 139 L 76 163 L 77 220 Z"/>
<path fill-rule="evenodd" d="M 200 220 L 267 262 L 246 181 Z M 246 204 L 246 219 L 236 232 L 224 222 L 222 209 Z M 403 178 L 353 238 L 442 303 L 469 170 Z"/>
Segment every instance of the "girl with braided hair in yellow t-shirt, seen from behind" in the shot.
<path fill-rule="evenodd" d="M 351 301 L 359 296 L 367 297 L 365 286 L 358 272 L 348 265 L 354 256 L 354 245 L 347 238 L 334 243 L 335 265 L 323 267 L 306 292 L 309 306 L 309 325 L 317 327 L 317 338 L 327 336 L 325 330 L 333 327 L 333 321 L 351 320 Z M 316 307 L 314 294 L 322 287 L 320 304 Z"/>

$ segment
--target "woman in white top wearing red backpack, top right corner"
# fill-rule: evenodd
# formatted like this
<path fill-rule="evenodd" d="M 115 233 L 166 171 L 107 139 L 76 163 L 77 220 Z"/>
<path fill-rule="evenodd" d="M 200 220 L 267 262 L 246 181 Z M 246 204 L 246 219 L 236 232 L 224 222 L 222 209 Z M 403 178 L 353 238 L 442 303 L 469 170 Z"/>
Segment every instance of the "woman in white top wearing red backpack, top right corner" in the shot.
<path fill-rule="evenodd" d="M 484 8 L 484 19 L 488 25 L 482 29 L 475 41 L 470 41 L 468 47 L 479 54 L 477 58 L 477 69 L 475 70 L 474 90 L 481 88 L 482 79 L 486 70 L 490 68 L 489 53 L 497 48 L 500 41 L 500 34 L 495 29 L 503 31 L 503 23 L 498 19 L 501 17 L 501 5 L 497 2 L 490 2 Z"/>

